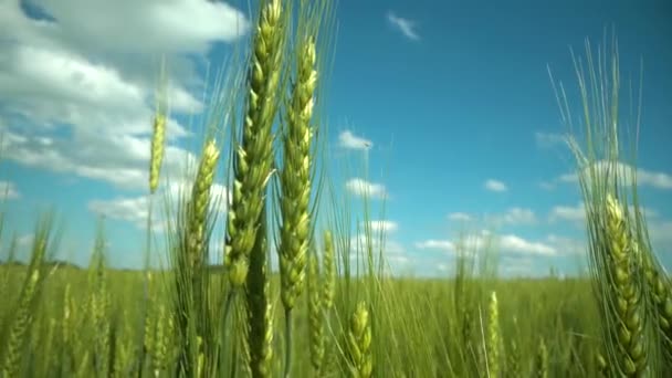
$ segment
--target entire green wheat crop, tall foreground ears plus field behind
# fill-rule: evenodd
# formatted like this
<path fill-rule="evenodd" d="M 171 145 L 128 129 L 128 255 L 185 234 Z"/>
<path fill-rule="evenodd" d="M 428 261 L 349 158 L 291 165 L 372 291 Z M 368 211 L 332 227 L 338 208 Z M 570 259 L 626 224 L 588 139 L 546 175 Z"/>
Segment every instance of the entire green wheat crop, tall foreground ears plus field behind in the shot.
<path fill-rule="evenodd" d="M 326 182 L 317 169 L 317 137 L 326 133 L 314 113 L 332 12 L 328 0 L 261 2 L 245 81 L 231 81 L 244 95 L 231 102 L 242 104 L 241 127 L 231 128 L 231 196 L 227 203 L 212 198 L 224 155 L 212 127 L 191 188 L 170 213 L 170 269 L 108 269 L 102 227 L 86 272 L 50 264 L 60 233 L 51 214 L 42 218 L 30 263 L 1 270 L 1 376 L 672 374 L 672 284 L 649 243 L 634 171 L 619 164 L 618 55 L 609 59 L 605 49 L 595 62 L 587 45 L 588 69 L 575 60 L 587 153 L 569 141 L 587 203 L 589 276 L 496 280 L 489 254 L 465 243 L 458 246 L 454 279 L 396 279 L 385 274 L 384 244 L 370 228 L 364 248 L 350 244 L 347 203 L 337 196 L 329 202 L 336 211 L 325 212 L 330 221 L 317 222 Z M 556 94 L 570 123 L 561 84 Z M 213 117 L 235 119 L 233 105 L 219 111 Z M 167 120 L 168 106 L 159 101 L 151 197 L 161 187 Z M 214 251 L 213 208 L 224 204 L 223 248 Z M 221 266 L 210 264 L 217 253 Z M 353 271 L 354 260 L 365 267 Z M 590 283 L 592 293 L 585 294 Z"/>

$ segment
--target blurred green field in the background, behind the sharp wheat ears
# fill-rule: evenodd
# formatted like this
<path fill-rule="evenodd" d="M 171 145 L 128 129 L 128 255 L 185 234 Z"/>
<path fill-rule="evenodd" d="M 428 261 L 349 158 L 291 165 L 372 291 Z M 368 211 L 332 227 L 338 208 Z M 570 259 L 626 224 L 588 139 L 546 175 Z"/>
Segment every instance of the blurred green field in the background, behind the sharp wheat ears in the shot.
<path fill-rule="evenodd" d="M 21 266 L 3 266 L 1 274 L 11 274 L 9 287 L 6 293 L 17 293 L 24 276 Z M 157 273 L 170 274 L 170 272 Z M 138 329 L 138 319 L 141 317 L 139 311 L 143 304 L 143 280 L 140 272 L 124 272 L 111 270 L 107 272 L 108 292 L 111 294 L 112 308 L 111 318 L 116 334 L 124 337 L 117 339 L 117 350 L 122 345 L 137 351 L 141 348 L 137 337 L 134 337 Z M 213 279 L 214 281 L 214 279 Z M 72 356 L 77 366 L 85 358 L 83 350 L 87 350 L 87 345 L 83 342 L 95 335 L 93 319 L 90 312 L 82 304 L 86 303 L 90 291 L 87 285 L 87 271 L 73 267 L 59 269 L 49 279 L 49 284 L 42 293 L 42 301 L 35 311 L 35 321 L 31 327 L 29 336 L 30 346 L 22 353 L 22 366 L 25 376 L 60 377 L 70 376 L 72 364 L 66 364 L 69 359 L 45 354 L 48 350 L 59 350 L 63 356 Z M 274 275 L 271 281 L 272 297 L 280 295 L 280 280 Z M 337 283 L 344 284 L 343 281 Z M 355 281 L 350 283 L 354 292 L 366 288 L 366 281 Z M 65 322 L 64 292 L 70 285 L 72 297 L 71 316 Z M 587 280 L 508 280 L 487 283 L 487 286 L 497 292 L 500 304 L 501 337 L 504 340 L 501 370 L 505 376 L 510 371 L 507 357 L 511 349 L 508 340 L 515 340 L 519 348 L 521 371 L 532 371 L 534 368 L 535 354 L 538 337 L 543 337 L 549 349 L 549 369 L 552 377 L 576 377 L 595 376 L 595 364 L 591 351 L 599 345 L 597 340 L 599 316 L 597 307 L 589 292 L 590 283 Z M 361 288 L 359 288 L 361 287 Z M 452 305 L 454 283 L 449 280 L 416 280 L 416 279 L 390 279 L 382 286 L 382 295 L 393 304 L 393 316 L 384 317 L 382 324 L 375 321 L 376 314 L 386 308 L 374 308 L 374 345 L 384 345 L 385 348 L 376 348 L 375 361 L 377 377 L 464 377 L 472 376 L 468 369 L 472 365 L 477 370 L 473 376 L 484 376 L 485 365 L 477 358 L 477 350 L 482 350 L 484 345 L 481 340 L 480 329 L 477 328 L 477 312 L 474 323 L 474 330 L 471 343 L 475 346 L 476 356 L 463 356 L 463 343 L 461 338 L 461 327 L 455 322 L 455 308 Z M 484 292 L 485 293 L 485 292 Z M 559 300 L 558 300 L 559 298 Z M 10 295 L 9 301 L 15 301 L 17 294 Z M 336 297 L 338 302 L 338 297 Z M 484 317 L 487 316 L 487 295 L 480 298 L 471 298 L 476 307 L 482 308 Z M 170 308 L 171 296 L 169 293 L 153 296 L 151 306 L 165 304 Z M 340 304 L 345 305 L 345 304 Z M 337 304 L 338 306 L 338 304 Z M 382 307 L 382 306 L 381 306 Z M 577 311 L 580 308 L 581 311 Z M 1 318 L 11 315 L 10 307 L 2 307 Z M 282 312 L 275 312 L 274 324 L 282 324 Z M 514 317 L 518 317 L 518 325 L 514 323 Z M 126 322 L 124 322 L 126 319 Z M 349 322 L 348 318 L 342 321 Z M 333 322 L 333 327 L 340 327 L 342 321 Z M 484 318 L 483 322 L 486 322 Z M 55 327 L 56 332 L 50 330 Z M 4 324 L 4 323 L 3 323 Z M 80 325 L 73 327 L 72 324 Z M 295 319 L 296 360 L 294 364 L 294 375 L 297 377 L 311 377 L 312 365 L 308 338 L 307 303 L 305 300 L 298 302 Z M 348 325 L 347 323 L 345 325 Z M 65 330 L 75 339 L 82 340 L 74 344 L 64 343 Z M 336 329 L 335 329 L 336 330 Z M 343 343 L 342 330 L 336 330 L 336 335 L 327 332 L 327 337 L 335 342 Z M 46 339 L 49 338 L 49 339 Z M 120 344 L 120 345 L 119 345 Z M 342 344 L 342 347 L 345 344 Z M 327 348 L 332 356 L 337 356 L 334 346 Z M 44 356 L 51 356 L 45 360 Z M 118 356 L 118 355 L 117 355 Z M 118 358 L 115 356 L 114 358 Z M 138 366 L 134 360 L 137 355 L 132 354 L 126 365 Z M 471 360 L 473 364 L 471 364 Z M 150 359 L 147 357 L 147 359 Z M 114 363 L 113 363 L 114 364 Z M 171 364 L 176 364 L 174 359 Z M 338 361 L 332 367 L 332 376 L 342 376 L 345 366 L 338 366 Z M 144 361 L 145 375 L 151 376 L 151 364 Z M 31 369 L 49 371 L 48 375 L 35 372 Z M 91 376 L 94 366 L 88 366 L 82 370 L 82 377 Z M 134 368 L 135 369 L 135 368 Z M 132 369 L 133 370 L 133 369 Z M 63 371 L 60 375 L 59 371 Z M 171 369 L 167 369 L 171 371 Z M 276 371 L 280 374 L 280 371 Z M 527 375 L 524 375 L 527 376 Z"/>

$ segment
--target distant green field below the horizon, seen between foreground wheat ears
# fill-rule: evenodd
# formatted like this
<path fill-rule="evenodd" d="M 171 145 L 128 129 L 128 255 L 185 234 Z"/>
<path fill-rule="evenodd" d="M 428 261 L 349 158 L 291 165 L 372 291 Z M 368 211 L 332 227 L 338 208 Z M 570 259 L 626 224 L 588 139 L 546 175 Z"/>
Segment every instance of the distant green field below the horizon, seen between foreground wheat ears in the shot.
<path fill-rule="evenodd" d="M 2 293 L 4 303 L 18 300 L 25 269 L 3 266 Z M 153 281 L 161 280 L 155 272 Z M 165 350 L 175 356 L 176 344 L 166 337 L 169 321 L 161 313 L 170 308 L 171 298 L 160 288 L 144 297 L 144 274 L 140 272 L 107 271 L 107 291 L 111 305 L 107 316 L 115 329 L 111 339 L 115 377 L 137 374 L 138 356 L 144 344 L 153 353 Z M 470 276 L 465 276 L 470 279 Z M 462 298 L 466 307 L 455 306 L 460 282 L 444 280 L 385 281 L 381 295 L 393 311 L 380 306 L 372 318 L 385 324 L 376 325 L 375 343 L 380 347 L 374 357 L 377 377 L 484 377 L 487 376 L 483 333 L 487 324 L 489 293 L 496 291 L 500 303 L 500 327 L 503 377 L 592 377 L 596 375 L 594 350 L 599 346 L 597 325 L 599 316 L 587 279 L 581 280 L 511 280 L 491 281 L 471 276 L 463 287 L 469 297 Z M 94 366 L 93 348 L 97 330 L 91 317 L 91 295 L 95 286 L 87 285 L 88 272 L 73 267 L 56 270 L 45 285 L 42 303 L 35 313 L 32 332 L 22 351 L 22 368 L 27 377 L 70 376 L 80 369 L 82 377 L 91 377 Z M 4 283 L 8 282 L 8 283 Z M 279 277 L 273 277 L 272 297 L 279 294 Z M 364 282 L 350 283 L 365 285 Z M 345 285 L 345 282 L 339 282 Z M 353 293 L 357 290 L 351 288 Z M 143 323 L 143 308 L 149 304 L 151 314 Z M 345 305 L 345 304 L 342 304 Z M 11 307 L 1 306 L 0 318 L 11 317 Z M 164 315 L 161 315 L 164 314 Z M 307 306 L 301 301 L 296 317 L 297 360 L 293 376 L 314 377 L 311 366 L 309 327 Z M 282 324 L 282 313 L 275 313 L 275 324 Z M 342 327 L 336 317 L 334 327 Z M 148 330 L 143 340 L 143 327 Z M 162 329 L 161 329 L 162 328 Z M 158 332 L 157 332 L 158 330 Z M 151 335 L 151 336 L 149 336 Z M 162 336 L 161 336 L 162 335 Z M 160 346 L 156 343 L 166 343 Z M 545 346 L 545 350 L 540 348 Z M 282 345 L 276 345 L 282 350 Z M 337 351 L 332 351 L 335 356 Z M 170 357 L 167 358 L 169 361 Z M 334 360 L 333 364 L 337 361 Z M 154 376 L 154 357 L 147 356 L 144 376 Z M 171 364 L 169 364 L 171 366 Z M 334 368 L 328 375 L 348 376 Z M 469 371 L 469 372 L 468 372 Z M 165 376 L 165 374 L 159 374 Z M 227 375 L 223 375 L 227 376 Z"/>

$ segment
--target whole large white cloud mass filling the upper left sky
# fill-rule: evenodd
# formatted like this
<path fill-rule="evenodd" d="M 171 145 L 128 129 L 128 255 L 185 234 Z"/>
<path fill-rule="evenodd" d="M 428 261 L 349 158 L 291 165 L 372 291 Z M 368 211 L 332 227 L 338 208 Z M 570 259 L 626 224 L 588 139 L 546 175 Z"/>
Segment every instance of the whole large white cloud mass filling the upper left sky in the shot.
<path fill-rule="evenodd" d="M 34 0 L 0 3 L 0 128 L 3 157 L 18 164 L 145 189 L 158 57 L 168 62 L 174 114 L 203 104 L 199 62 L 246 32 L 242 12 L 197 0 Z M 124 20 L 124 22 L 117 22 Z M 175 117 L 167 138 L 189 136 Z M 168 147 L 165 169 L 193 156 Z"/>

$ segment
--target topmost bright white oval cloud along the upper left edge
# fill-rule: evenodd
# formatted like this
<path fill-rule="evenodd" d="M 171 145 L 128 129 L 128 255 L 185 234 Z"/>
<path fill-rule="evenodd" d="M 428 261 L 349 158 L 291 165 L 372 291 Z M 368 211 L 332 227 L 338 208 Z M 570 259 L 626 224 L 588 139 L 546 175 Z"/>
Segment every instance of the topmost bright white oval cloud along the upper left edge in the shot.
<path fill-rule="evenodd" d="M 220 1 L 29 1 L 55 22 L 28 19 L 18 3 L 6 3 L 0 14 L 8 30 L 20 28 L 20 38 L 49 33 L 81 50 L 111 53 L 203 53 L 210 43 L 233 41 L 249 29 L 241 11 Z"/>

